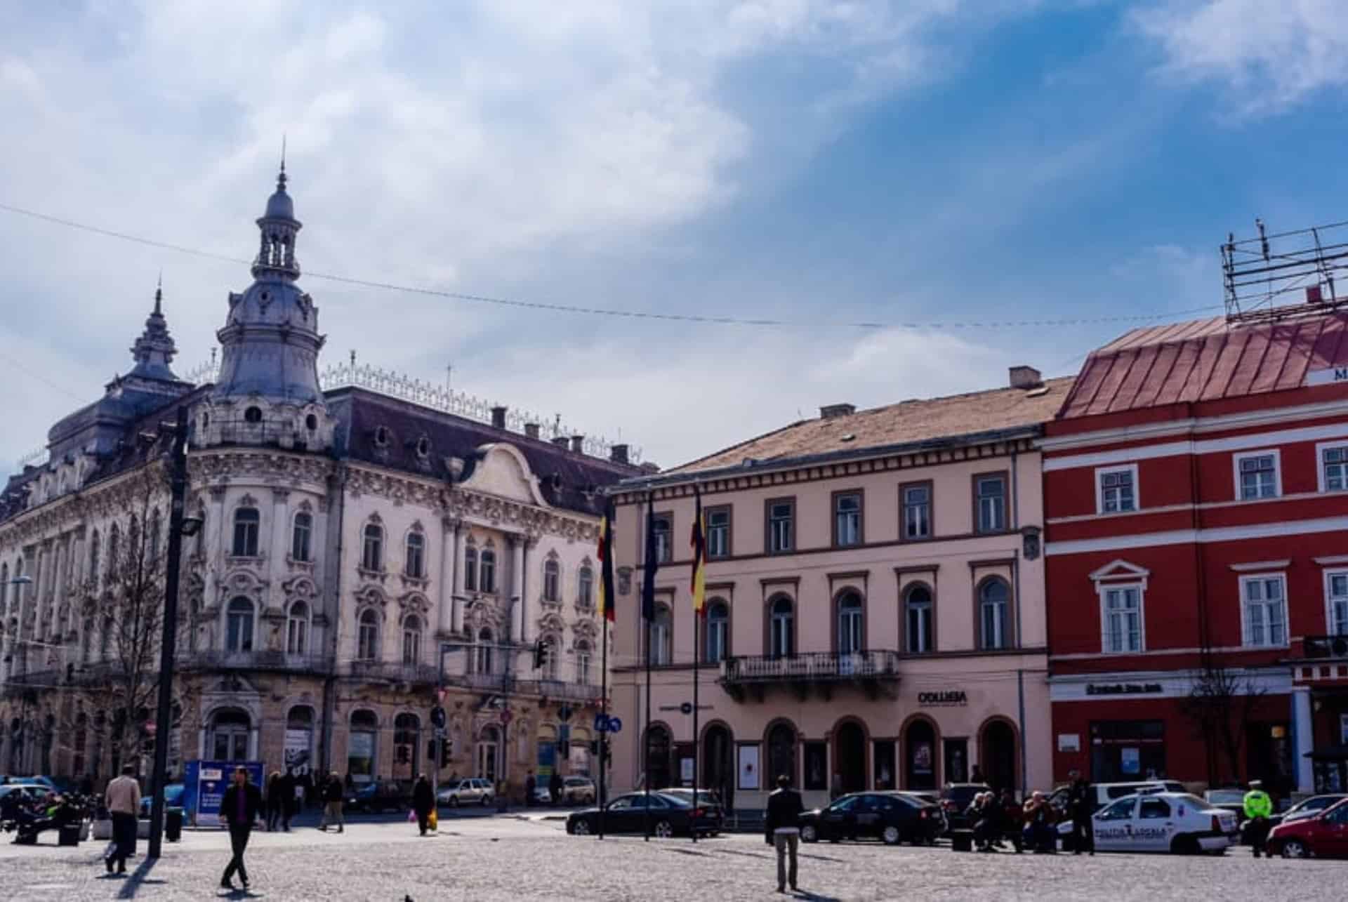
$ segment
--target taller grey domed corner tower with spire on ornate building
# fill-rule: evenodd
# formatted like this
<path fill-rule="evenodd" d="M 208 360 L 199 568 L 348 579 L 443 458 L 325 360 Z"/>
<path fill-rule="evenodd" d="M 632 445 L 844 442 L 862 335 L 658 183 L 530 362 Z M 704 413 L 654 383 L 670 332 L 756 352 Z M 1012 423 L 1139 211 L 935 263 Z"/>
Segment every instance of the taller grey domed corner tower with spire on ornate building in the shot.
<path fill-rule="evenodd" d="M 276 190 L 257 220 L 262 244 L 253 283 L 229 294 L 220 376 L 197 411 L 198 446 L 270 445 L 326 450 L 334 419 L 318 387 L 318 307 L 299 289 L 295 237 L 301 229 L 286 191 L 282 159 Z"/>

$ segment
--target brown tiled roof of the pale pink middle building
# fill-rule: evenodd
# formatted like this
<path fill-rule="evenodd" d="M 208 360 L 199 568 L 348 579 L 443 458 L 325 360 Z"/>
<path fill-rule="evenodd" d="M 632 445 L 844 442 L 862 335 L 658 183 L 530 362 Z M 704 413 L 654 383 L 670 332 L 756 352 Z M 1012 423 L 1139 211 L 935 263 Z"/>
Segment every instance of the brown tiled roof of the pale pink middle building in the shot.
<path fill-rule="evenodd" d="M 859 452 L 1035 426 L 1053 418 L 1072 378 L 1049 379 L 1039 388 L 993 388 L 967 395 L 905 400 L 841 417 L 803 419 L 683 464 L 670 473 L 736 467 L 747 458 L 770 464 L 830 452 Z"/>

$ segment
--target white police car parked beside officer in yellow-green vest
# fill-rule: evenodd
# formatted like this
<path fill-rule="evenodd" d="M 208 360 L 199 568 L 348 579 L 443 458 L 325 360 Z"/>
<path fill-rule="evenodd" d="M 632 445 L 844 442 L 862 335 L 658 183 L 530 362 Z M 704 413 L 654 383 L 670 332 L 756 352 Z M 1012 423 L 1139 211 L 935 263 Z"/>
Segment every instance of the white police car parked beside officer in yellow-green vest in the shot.
<path fill-rule="evenodd" d="M 1147 793 L 1111 802 L 1092 818 L 1100 852 L 1221 853 L 1240 841 L 1232 812 L 1190 793 Z"/>

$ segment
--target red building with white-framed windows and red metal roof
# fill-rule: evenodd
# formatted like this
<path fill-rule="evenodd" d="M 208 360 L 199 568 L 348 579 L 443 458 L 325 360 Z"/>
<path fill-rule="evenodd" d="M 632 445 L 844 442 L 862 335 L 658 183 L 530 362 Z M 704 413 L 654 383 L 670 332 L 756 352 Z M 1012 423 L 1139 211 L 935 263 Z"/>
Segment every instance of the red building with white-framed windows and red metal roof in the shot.
<path fill-rule="evenodd" d="M 1348 313 L 1130 332 L 1043 452 L 1055 779 L 1343 789 Z"/>

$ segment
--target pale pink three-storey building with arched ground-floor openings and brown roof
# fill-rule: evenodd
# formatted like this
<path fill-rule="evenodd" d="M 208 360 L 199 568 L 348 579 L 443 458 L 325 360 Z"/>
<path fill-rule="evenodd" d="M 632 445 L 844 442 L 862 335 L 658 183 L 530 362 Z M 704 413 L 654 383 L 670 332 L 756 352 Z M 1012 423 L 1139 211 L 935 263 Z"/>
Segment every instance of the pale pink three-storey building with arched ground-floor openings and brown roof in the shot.
<path fill-rule="evenodd" d="M 700 783 L 762 805 L 778 774 L 830 789 L 1051 778 L 1041 423 L 1070 380 L 1029 367 L 991 391 L 825 407 L 617 489 L 613 787 Z M 708 611 L 689 534 L 700 487 Z M 659 537 L 650 755 L 643 529 Z M 701 685 L 693 735 L 694 670 Z"/>

